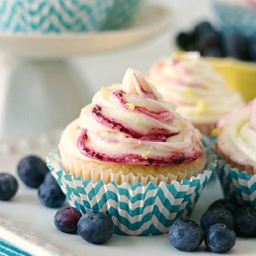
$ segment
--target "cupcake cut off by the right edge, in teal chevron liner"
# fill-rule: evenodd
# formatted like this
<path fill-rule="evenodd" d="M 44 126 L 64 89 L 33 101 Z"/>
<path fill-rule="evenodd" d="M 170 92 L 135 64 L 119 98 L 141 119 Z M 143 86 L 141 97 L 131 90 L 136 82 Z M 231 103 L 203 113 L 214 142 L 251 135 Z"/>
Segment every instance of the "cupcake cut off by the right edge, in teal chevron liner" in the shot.
<path fill-rule="evenodd" d="M 256 99 L 225 115 L 217 125 L 218 174 L 224 194 L 256 206 Z"/>

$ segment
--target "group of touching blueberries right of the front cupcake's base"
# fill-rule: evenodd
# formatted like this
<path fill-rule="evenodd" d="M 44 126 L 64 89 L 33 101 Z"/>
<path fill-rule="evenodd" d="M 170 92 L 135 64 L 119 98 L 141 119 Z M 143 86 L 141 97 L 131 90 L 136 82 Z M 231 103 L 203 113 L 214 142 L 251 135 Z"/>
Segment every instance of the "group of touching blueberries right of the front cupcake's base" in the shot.
<path fill-rule="evenodd" d="M 256 236 L 256 209 L 240 207 L 225 199 L 213 202 L 202 215 L 200 225 L 191 220 L 176 222 L 169 229 L 169 241 L 178 250 L 192 251 L 202 241 L 213 252 L 227 252 L 236 235 Z"/>

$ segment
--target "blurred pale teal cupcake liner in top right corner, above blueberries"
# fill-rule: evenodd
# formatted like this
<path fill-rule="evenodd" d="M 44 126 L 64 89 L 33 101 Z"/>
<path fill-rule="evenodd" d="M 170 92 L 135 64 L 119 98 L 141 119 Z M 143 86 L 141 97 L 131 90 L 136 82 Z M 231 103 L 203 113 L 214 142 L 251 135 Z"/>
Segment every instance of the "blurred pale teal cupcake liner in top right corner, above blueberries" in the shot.
<path fill-rule="evenodd" d="M 256 8 L 232 1 L 213 0 L 216 16 L 223 32 L 238 31 L 256 36 Z"/>

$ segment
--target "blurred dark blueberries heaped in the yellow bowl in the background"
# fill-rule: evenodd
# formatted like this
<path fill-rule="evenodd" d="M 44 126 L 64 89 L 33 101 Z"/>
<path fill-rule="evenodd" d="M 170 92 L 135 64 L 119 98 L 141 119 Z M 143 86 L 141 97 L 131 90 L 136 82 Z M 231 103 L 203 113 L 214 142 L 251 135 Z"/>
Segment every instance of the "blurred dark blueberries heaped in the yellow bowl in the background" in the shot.
<path fill-rule="evenodd" d="M 184 51 L 199 51 L 205 57 L 231 57 L 256 61 L 256 37 L 239 32 L 221 33 L 208 21 L 198 23 L 192 31 L 180 32 L 176 43 Z"/>

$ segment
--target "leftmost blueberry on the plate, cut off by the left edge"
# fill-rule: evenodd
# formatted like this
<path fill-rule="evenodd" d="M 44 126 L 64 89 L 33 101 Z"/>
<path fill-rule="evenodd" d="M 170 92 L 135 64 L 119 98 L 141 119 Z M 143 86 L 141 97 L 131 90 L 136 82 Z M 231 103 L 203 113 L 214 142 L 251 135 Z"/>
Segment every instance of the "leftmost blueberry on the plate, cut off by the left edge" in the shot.
<path fill-rule="evenodd" d="M 0 173 L 0 200 L 10 200 L 18 190 L 18 182 L 8 173 Z"/>

